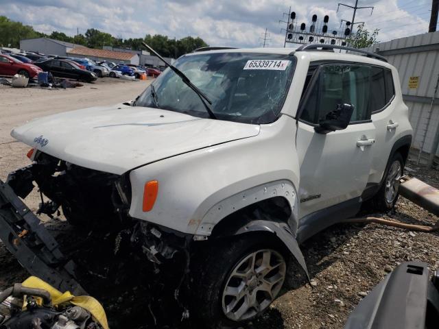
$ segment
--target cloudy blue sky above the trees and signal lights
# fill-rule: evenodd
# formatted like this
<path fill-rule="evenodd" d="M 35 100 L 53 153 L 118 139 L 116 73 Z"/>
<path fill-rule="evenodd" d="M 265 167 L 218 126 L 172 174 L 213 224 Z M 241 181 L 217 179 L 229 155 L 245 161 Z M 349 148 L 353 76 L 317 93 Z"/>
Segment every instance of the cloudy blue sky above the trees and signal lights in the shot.
<path fill-rule="evenodd" d="M 40 32 L 73 36 L 95 28 L 121 38 L 163 34 L 169 38 L 200 36 L 211 46 L 259 47 L 268 31 L 267 45 L 283 47 L 291 6 L 298 23 L 309 26 L 311 16 L 329 16 L 329 29 L 340 30 L 353 10 L 338 2 L 355 0 L 0 0 L 0 15 L 32 25 Z M 355 21 L 379 29 L 379 41 L 428 31 L 431 0 L 358 0 Z M 289 45 L 295 47 L 294 45 Z"/>

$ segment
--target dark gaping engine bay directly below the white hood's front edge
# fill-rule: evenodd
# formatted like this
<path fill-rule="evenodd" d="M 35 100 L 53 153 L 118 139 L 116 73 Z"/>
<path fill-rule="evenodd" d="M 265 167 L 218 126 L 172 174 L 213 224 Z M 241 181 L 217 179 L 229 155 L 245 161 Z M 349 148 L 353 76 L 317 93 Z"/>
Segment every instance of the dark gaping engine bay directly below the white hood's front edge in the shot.
<path fill-rule="evenodd" d="M 22 198 L 32 191 L 33 182 L 40 188 L 42 197 L 38 214 L 51 217 L 61 207 L 66 219 L 78 226 L 119 222 L 128 214 L 130 182 L 119 175 L 87 169 L 38 152 L 33 164 L 13 171 L 7 180 Z M 48 202 L 43 201 L 43 194 L 50 199 Z"/>

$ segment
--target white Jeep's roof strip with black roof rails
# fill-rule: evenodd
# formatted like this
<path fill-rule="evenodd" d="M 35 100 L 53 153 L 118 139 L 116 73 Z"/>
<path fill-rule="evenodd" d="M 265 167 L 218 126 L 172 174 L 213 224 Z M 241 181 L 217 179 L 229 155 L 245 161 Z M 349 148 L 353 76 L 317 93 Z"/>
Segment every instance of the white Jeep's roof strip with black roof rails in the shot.
<path fill-rule="evenodd" d="M 356 55 L 355 53 L 340 53 L 328 50 L 308 50 L 308 51 L 296 51 L 297 48 L 234 48 L 234 49 L 213 49 L 202 51 L 195 51 L 193 53 L 187 53 L 185 56 L 195 56 L 201 53 L 274 53 L 279 55 L 295 55 L 296 57 L 302 56 L 308 58 L 311 62 L 320 60 L 337 60 L 346 62 L 361 62 L 367 64 L 375 64 L 379 66 L 392 67 L 392 65 L 383 62 L 383 60 L 377 60 L 367 56 Z"/>

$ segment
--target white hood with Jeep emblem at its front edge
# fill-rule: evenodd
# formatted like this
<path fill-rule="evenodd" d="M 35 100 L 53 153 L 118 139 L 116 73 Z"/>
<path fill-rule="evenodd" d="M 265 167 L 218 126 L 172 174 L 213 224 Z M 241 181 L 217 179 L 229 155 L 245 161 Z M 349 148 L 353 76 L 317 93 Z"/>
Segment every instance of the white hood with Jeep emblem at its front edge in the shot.
<path fill-rule="evenodd" d="M 34 119 L 11 136 L 82 167 L 122 174 L 150 162 L 259 134 L 259 125 L 156 108 L 95 107 Z"/>

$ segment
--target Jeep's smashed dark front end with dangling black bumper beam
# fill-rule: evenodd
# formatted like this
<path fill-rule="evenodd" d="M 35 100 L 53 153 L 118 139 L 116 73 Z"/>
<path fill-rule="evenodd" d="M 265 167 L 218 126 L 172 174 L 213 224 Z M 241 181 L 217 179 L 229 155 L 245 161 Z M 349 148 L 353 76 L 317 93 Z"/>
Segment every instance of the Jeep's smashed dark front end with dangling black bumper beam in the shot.
<path fill-rule="evenodd" d="M 164 311 L 169 307 L 180 310 L 179 321 L 182 314 L 187 317 L 181 291 L 187 287 L 192 236 L 130 217 L 128 175 L 86 169 L 42 152 L 33 160 L 0 182 L 0 239 L 21 265 L 56 289 L 91 293 L 110 305 L 119 305 L 113 300 L 129 291 L 143 301 L 130 313 L 142 317 L 121 317 L 119 306 L 108 310 L 124 325 L 169 323 Z M 58 232 L 58 241 L 19 199 L 34 183 L 41 197 L 37 212 L 54 217 L 61 209 L 75 226 Z M 108 287 L 115 288 L 109 292 Z M 149 320 L 143 316 L 145 305 Z"/>

